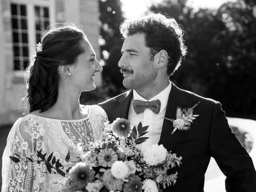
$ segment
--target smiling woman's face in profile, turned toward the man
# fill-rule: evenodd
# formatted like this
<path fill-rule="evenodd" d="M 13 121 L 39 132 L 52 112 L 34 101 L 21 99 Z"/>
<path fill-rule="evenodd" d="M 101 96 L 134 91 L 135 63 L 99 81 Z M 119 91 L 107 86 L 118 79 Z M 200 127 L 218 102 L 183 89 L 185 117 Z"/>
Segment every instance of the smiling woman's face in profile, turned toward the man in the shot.
<path fill-rule="evenodd" d="M 76 64 L 72 65 L 70 71 L 72 75 L 72 84 L 80 92 L 90 91 L 96 88 L 95 75 L 102 71 L 100 63 L 96 59 L 96 54 L 87 40 L 83 42 L 85 52 L 78 56 Z"/>

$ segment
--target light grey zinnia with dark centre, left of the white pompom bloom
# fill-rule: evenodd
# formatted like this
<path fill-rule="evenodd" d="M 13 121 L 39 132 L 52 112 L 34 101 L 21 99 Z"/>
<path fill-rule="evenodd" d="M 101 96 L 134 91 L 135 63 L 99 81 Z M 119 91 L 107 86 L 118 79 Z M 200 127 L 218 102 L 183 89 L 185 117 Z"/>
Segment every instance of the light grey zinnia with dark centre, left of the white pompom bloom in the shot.
<path fill-rule="evenodd" d="M 102 149 L 98 154 L 99 164 L 103 167 L 111 167 L 118 159 L 118 155 L 110 148 Z"/>

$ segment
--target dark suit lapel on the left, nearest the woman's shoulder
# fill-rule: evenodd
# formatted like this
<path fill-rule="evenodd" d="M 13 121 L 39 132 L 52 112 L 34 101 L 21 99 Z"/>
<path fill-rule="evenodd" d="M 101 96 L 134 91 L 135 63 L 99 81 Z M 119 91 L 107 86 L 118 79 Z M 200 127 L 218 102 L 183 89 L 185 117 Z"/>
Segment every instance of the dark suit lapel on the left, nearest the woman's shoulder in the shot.
<path fill-rule="evenodd" d="M 125 118 L 128 119 L 130 103 L 132 100 L 132 90 L 126 92 L 118 99 L 113 101 L 113 121 L 116 118 Z"/>

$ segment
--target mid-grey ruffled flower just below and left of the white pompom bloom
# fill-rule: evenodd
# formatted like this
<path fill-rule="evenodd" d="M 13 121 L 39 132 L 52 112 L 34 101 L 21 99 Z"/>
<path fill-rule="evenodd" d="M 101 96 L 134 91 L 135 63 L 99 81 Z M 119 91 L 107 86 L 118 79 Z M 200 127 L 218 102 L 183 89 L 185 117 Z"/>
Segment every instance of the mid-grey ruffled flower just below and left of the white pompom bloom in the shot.
<path fill-rule="evenodd" d="M 104 185 L 108 188 L 108 190 L 122 190 L 123 180 L 117 179 L 111 174 L 111 170 L 108 169 L 103 175 L 102 178 Z"/>

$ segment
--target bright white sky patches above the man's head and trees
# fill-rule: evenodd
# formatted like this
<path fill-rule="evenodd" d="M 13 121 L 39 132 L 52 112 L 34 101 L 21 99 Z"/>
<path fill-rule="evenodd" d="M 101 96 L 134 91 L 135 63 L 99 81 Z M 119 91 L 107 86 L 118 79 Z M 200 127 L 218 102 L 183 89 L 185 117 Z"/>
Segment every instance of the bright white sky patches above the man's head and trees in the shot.
<path fill-rule="evenodd" d="M 228 0 L 188 0 L 188 6 L 192 6 L 194 9 L 198 8 L 218 8 L 223 3 Z M 235 1 L 235 0 L 229 0 Z M 122 11 L 124 12 L 124 17 L 127 19 L 132 19 L 134 17 L 142 16 L 144 12 L 148 10 L 151 2 L 159 3 L 162 0 L 121 0 Z"/>

